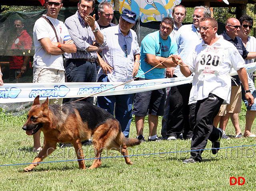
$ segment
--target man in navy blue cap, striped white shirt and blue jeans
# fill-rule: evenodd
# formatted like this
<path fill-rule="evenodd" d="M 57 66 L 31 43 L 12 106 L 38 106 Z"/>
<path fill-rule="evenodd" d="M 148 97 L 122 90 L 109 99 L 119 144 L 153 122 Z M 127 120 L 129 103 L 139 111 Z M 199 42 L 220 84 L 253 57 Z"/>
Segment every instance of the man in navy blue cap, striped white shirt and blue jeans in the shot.
<path fill-rule="evenodd" d="M 131 29 L 136 22 L 135 20 L 136 13 L 125 9 L 117 26 L 108 27 L 101 31 L 104 43 L 106 42 L 106 46 L 102 48 L 102 59 L 113 70 L 100 68 L 97 77 L 98 82 L 127 82 L 138 73 L 140 47 L 137 35 Z M 120 121 L 122 132 L 126 137 L 129 136 L 132 121 L 133 99 L 134 94 L 98 97 L 98 106 L 115 115 L 116 119 Z"/>

